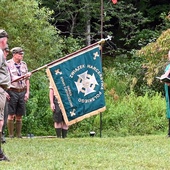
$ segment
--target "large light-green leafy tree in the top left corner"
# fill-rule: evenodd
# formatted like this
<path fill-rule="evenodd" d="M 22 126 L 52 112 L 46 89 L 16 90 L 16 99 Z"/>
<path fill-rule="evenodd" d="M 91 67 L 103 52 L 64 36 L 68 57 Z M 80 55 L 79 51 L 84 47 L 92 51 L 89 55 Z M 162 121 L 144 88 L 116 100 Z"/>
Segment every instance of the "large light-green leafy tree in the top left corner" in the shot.
<path fill-rule="evenodd" d="M 40 9 L 35 0 L 4 0 L 0 8 L 1 27 L 9 33 L 9 46 L 23 47 L 29 68 L 41 66 L 56 52 L 60 53 L 60 43 L 57 42 L 62 39 L 59 31 L 49 23 L 51 11 Z"/>

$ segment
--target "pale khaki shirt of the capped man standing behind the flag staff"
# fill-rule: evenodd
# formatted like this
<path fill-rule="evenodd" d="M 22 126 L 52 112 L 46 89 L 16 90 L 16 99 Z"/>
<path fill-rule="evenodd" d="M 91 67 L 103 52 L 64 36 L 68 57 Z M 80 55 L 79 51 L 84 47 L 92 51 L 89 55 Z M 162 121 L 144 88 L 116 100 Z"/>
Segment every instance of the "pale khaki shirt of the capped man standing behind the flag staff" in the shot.
<path fill-rule="evenodd" d="M 20 76 L 18 76 L 19 71 L 18 71 L 13 59 L 8 60 L 7 65 L 8 65 L 9 71 L 10 71 L 11 81 L 28 73 L 27 64 L 24 61 L 21 61 L 21 63 L 20 63 L 20 74 L 21 74 Z M 27 79 L 23 79 L 23 80 L 19 80 L 17 82 L 13 82 L 11 84 L 11 87 L 16 88 L 16 89 L 26 88 L 26 80 Z"/>

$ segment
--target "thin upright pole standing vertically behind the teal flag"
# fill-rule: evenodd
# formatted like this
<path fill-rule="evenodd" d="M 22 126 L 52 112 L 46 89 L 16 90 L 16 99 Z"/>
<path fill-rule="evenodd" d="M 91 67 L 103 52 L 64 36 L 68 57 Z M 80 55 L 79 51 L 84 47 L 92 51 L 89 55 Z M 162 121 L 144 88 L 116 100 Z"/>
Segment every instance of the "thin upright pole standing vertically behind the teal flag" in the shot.
<path fill-rule="evenodd" d="M 103 0 L 101 0 L 101 26 L 100 26 L 100 38 L 103 39 Z M 101 62 L 102 62 L 102 45 L 101 45 Z M 102 137 L 102 112 L 100 112 L 100 137 Z"/>

